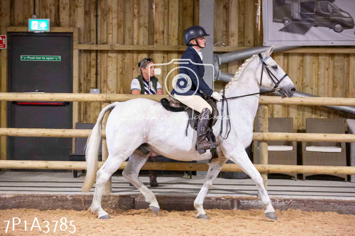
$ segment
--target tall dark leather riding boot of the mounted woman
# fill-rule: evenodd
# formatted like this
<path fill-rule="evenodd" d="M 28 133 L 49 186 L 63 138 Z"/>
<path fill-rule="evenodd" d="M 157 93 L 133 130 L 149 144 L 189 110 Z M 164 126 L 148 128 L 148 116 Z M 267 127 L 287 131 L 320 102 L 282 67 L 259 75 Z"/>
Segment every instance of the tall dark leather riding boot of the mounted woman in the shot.
<path fill-rule="evenodd" d="M 211 142 L 207 140 L 207 131 L 210 120 L 211 111 L 209 111 L 208 108 L 203 108 L 197 123 L 196 149 L 198 154 L 203 154 L 206 152 L 206 150 L 211 149 Z M 220 142 L 213 142 L 213 145 L 218 147 Z"/>

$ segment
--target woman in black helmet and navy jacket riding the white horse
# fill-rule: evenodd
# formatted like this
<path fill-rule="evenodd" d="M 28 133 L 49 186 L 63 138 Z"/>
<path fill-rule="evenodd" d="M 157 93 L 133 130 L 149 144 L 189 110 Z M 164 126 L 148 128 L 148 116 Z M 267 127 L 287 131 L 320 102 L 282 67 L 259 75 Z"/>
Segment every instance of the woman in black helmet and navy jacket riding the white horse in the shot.
<path fill-rule="evenodd" d="M 206 46 L 204 36 L 208 35 L 209 34 L 207 34 L 201 26 L 191 26 L 187 28 L 184 38 L 186 46 L 189 47 L 187 47 L 181 59 L 190 59 L 194 63 L 202 64 L 203 54 L 200 50 Z M 192 81 L 191 88 L 186 91 L 183 88 L 179 88 L 179 86 L 184 87 L 187 83 L 184 83 L 184 80 L 178 80 L 171 94 L 186 106 L 200 112 L 197 124 L 196 147 L 198 154 L 203 154 L 206 150 L 211 149 L 211 143 L 207 140 L 207 130 L 211 120 L 212 107 L 202 98 L 201 91 L 217 101 L 222 99 L 222 95 L 218 92 L 214 92 L 208 87 L 206 82 L 204 82 L 203 65 L 196 65 L 191 62 L 189 62 L 189 64 L 185 63 L 186 62 L 180 63 L 179 74 L 186 74 L 190 77 Z M 214 142 L 214 145 L 217 147 L 220 145 L 220 142 Z"/>

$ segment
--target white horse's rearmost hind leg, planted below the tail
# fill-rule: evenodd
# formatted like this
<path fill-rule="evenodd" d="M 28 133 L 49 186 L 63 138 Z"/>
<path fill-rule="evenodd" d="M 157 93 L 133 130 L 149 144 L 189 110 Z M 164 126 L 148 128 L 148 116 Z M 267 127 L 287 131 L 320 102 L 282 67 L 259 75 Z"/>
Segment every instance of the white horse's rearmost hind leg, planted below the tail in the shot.
<path fill-rule="evenodd" d="M 97 171 L 96 174 L 96 184 L 95 184 L 95 193 L 93 201 L 91 204 L 91 211 L 98 214 L 99 219 L 110 219 L 109 214 L 104 211 L 101 207 L 101 198 L 102 192 L 104 189 L 105 183 L 108 181 L 110 176 L 120 167 L 122 162 L 127 159 L 128 155 L 112 155 L 109 154 L 107 160 L 102 165 L 102 167 Z"/>

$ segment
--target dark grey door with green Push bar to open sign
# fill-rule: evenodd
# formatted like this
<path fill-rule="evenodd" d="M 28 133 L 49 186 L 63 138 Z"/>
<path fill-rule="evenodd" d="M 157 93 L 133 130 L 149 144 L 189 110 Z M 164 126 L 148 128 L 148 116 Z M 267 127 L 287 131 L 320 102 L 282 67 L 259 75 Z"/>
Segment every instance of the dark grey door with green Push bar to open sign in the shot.
<path fill-rule="evenodd" d="M 60 61 L 25 61 L 21 56 L 60 56 Z M 8 58 L 9 92 L 73 91 L 72 34 L 9 33 Z M 10 128 L 72 128 L 71 102 L 16 101 L 8 108 Z M 59 137 L 9 137 L 8 159 L 69 161 L 71 142 Z"/>

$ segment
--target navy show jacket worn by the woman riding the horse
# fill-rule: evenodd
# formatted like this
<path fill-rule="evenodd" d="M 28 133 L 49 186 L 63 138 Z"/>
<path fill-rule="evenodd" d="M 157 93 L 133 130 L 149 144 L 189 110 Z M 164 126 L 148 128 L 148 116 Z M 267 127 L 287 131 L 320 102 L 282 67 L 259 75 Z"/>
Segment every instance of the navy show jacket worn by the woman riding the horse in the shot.
<path fill-rule="evenodd" d="M 192 62 L 202 63 L 200 55 L 198 55 L 198 53 L 196 52 L 195 49 L 193 49 L 192 46 L 187 47 L 184 54 L 182 54 L 181 59 L 191 59 Z M 186 63 L 187 61 L 180 61 L 180 62 Z M 192 64 L 190 61 L 189 61 L 189 64 L 180 63 L 179 65 L 190 68 L 192 71 L 194 71 L 197 74 L 197 78 L 196 78 L 195 73 L 193 73 L 190 69 L 179 68 L 180 74 L 187 74 L 191 78 L 191 81 L 192 81 L 191 89 L 184 92 L 184 93 L 181 93 L 181 92 L 176 91 L 175 87 L 174 87 L 174 89 L 171 91 L 171 94 L 189 96 L 189 95 L 194 94 L 194 92 L 197 89 L 195 95 L 202 97 L 201 92 L 200 92 L 200 90 L 201 90 L 207 96 L 209 96 L 209 97 L 212 96 L 213 90 L 210 89 L 208 87 L 208 85 L 206 84 L 206 82 L 204 82 L 204 80 L 203 80 L 203 75 L 204 75 L 204 66 L 203 65 L 195 65 L 195 64 Z M 197 80 L 198 80 L 198 88 L 197 88 Z"/>

